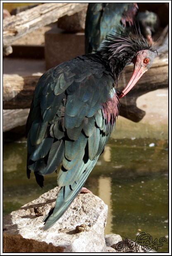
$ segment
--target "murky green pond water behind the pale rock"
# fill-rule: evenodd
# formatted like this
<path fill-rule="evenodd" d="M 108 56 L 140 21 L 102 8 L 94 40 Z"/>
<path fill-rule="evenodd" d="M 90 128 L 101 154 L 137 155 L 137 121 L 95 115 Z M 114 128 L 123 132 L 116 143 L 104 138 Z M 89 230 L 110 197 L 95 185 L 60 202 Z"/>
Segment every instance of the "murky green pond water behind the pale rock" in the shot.
<path fill-rule="evenodd" d="M 105 234 L 133 239 L 145 232 L 165 237 L 157 252 L 168 251 L 168 144 L 163 139 L 110 139 L 85 187 L 108 204 Z M 3 145 L 3 214 L 18 209 L 57 186 L 45 176 L 41 189 L 26 177 L 26 142 Z M 156 250 L 156 248 L 153 248 Z"/>

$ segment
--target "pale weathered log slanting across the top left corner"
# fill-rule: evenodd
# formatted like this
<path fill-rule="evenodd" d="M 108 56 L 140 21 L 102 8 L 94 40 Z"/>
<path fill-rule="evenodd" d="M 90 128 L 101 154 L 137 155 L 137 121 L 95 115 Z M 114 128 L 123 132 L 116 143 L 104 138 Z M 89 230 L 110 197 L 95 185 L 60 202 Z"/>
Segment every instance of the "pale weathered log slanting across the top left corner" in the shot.
<path fill-rule="evenodd" d="M 3 20 L 3 47 L 40 27 L 56 22 L 64 15 L 73 15 L 88 3 L 43 3 Z"/>

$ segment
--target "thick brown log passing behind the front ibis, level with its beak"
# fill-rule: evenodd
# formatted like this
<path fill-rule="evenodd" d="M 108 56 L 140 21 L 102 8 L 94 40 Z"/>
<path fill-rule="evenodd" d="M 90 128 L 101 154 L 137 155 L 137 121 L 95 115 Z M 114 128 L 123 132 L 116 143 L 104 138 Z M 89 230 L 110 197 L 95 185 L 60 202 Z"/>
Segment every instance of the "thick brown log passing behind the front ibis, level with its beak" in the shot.
<path fill-rule="evenodd" d="M 122 91 L 127 85 L 132 71 L 133 66 L 127 66 L 124 69 L 117 90 Z M 30 108 L 38 79 L 39 76 L 5 75 L 3 77 L 3 108 Z M 120 99 L 120 115 L 139 122 L 145 115 L 145 111 L 137 108 L 137 98 L 149 91 L 166 87 L 168 87 L 168 59 L 156 58 L 150 70 L 141 77 L 127 96 Z"/>

